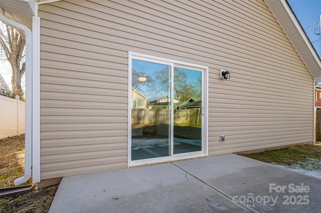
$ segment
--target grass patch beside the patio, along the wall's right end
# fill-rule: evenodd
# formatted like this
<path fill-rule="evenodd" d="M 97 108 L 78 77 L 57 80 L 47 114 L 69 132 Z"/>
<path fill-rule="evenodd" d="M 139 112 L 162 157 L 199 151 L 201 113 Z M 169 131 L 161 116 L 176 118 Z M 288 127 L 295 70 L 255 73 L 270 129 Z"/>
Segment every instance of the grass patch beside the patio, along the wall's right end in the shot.
<path fill-rule="evenodd" d="M 316 145 L 295 145 L 251 154 L 240 154 L 268 163 L 281 165 L 303 164 L 313 159 L 321 159 L 321 143 Z"/>

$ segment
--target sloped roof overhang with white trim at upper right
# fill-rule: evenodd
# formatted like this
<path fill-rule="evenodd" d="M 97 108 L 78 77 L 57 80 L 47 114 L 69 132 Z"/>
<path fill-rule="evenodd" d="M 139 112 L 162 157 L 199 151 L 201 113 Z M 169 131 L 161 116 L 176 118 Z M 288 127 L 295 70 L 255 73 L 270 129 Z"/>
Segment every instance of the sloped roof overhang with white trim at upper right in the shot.
<path fill-rule="evenodd" d="M 286 0 L 265 0 L 315 81 L 321 80 L 321 61 Z"/>

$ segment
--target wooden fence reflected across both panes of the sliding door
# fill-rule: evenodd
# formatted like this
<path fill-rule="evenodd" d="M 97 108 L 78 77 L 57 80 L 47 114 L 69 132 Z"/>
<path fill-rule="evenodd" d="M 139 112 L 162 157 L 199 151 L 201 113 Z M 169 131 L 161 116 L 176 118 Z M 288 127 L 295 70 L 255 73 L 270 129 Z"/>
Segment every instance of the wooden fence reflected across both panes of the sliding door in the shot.
<path fill-rule="evenodd" d="M 170 123 L 169 109 L 131 109 L 132 124 L 160 124 Z M 200 108 L 175 109 L 174 124 L 201 124 Z"/>

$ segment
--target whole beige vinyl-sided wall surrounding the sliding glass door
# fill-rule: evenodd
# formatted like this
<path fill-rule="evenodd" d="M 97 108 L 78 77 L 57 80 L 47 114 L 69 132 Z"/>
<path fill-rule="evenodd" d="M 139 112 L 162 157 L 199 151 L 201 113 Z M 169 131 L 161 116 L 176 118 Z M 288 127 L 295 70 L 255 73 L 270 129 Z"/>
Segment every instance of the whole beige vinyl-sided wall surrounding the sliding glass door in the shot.
<path fill-rule="evenodd" d="M 313 140 L 313 77 L 263 0 L 68 0 L 39 16 L 41 179 L 127 166 L 128 51 L 209 67 L 210 155 Z"/>

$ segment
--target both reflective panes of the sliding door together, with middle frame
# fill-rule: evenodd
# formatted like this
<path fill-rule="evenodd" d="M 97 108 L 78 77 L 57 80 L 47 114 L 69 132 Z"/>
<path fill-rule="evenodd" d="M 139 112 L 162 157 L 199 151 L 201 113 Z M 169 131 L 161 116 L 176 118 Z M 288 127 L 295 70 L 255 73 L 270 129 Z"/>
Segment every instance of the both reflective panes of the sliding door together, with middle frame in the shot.
<path fill-rule="evenodd" d="M 131 160 L 204 153 L 204 70 L 152 59 L 131 68 Z"/>

